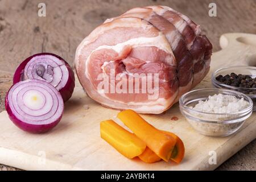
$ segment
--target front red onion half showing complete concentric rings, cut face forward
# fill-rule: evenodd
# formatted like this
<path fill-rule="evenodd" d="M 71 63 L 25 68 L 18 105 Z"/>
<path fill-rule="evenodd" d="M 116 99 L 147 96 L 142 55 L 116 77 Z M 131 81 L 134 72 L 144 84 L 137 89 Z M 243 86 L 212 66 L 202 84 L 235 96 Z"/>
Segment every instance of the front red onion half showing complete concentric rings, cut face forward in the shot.
<path fill-rule="evenodd" d="M 11 86 L 5 107 L 9 118 L 24 131 L 44 133 L 57 125 L 64 111 L 63 98 L 46 81 L 28 79 Z"/>

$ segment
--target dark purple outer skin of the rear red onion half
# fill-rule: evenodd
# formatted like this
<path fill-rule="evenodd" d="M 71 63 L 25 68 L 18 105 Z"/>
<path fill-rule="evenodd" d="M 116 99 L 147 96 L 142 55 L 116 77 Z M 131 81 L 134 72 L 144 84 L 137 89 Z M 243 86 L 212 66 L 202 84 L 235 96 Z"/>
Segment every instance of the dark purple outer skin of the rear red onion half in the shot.
<path fill-rule="evenodd" d="M 16 69 L 14 76 L 13 76 L 13 84 L 16 84 L 17 82 L 23 81 L 23 70 L 26 67 L 28 61 L 30 61 L 33 57 L 35 56 L 40 56 L 40 55 L 51 55 L 55 56 L 60 60 L 63 60 L 65 62 L 65 66 L 68 68 L 68 81 L 65 84 L 65 86 L 59 90 L 61 97 L 63 98 L 63 101 L 66 102 L 71 98 L 74 88 L 75 88 L 75 74 L 71 68 L 71 66 L 65 61 L 62 57 L 55 55 L 54 53 L 48 53 L 48 52 L 43 52 L 43 53 L 37 53 L 35 55 L 32 55 L 25 59 L 22 63 L 20 63 L 19 67 Z"/>

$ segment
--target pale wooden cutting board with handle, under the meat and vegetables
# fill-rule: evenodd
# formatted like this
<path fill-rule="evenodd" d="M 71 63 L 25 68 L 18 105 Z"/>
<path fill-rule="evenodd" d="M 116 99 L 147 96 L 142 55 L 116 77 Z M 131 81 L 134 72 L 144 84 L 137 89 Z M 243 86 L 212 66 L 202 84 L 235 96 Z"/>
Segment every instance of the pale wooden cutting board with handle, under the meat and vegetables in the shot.
<path fill-rule="evenodd" d="M 197 88 L 212 87 L 210 74 L 217 68 L 256 66 L 256 35 L 224 34 L 220 45 L 222 50 L 213 53 L 210 73 Z M 65 104 L 64 117 L 49 133 L 25 133 L 13 125 L 6 111 L 0 113 L 0 163 L 28 170 L 212 170 L 256 138 L 256 113 L 236 134 L 213 138 L 193 130 L 181 115 L 179 104 L 175 104 L 164 114 L 142 117 L 158 129 L 177 134 L 185 144 L 185 158 L 179 165 L 146 164 L 126 159 L 100 138 L 100 121 L 114 118 L 117 113 L 118 110 L 107 109 L 88 98 L 76 79 L 75 92 Z M 174 116 L 179 120 L 172 121 Z M 210 151 L 216 152 L 217 164 L 209 164 Z"/>

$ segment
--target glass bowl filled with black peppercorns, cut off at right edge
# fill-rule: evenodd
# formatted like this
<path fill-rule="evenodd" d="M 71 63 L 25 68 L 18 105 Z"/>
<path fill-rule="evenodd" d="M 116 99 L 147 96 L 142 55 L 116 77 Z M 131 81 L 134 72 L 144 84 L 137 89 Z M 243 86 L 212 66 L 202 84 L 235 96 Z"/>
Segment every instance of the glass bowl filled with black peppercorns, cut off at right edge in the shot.
<path fill-rule="evenodd" d="M 233 66 L 217 69 L 212 73 L 212 84 L 216 88 L 246 94 L 253 100 L 253 110 L 256 110 L 256 67 Z"/>

